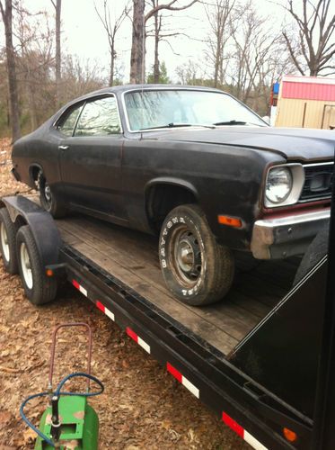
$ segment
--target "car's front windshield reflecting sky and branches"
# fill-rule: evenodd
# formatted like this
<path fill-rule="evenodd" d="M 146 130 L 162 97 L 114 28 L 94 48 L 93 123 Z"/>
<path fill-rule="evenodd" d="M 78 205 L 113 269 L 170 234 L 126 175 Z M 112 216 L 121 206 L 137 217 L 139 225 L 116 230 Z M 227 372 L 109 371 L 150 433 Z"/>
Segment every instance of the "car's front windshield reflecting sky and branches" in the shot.
<path fill-rule="evenodd" d="M 132 131 L 180 125 L 267 126 L 242 103 L 227 94 L 193 90 L 144 90 L 125 95 Z"/>

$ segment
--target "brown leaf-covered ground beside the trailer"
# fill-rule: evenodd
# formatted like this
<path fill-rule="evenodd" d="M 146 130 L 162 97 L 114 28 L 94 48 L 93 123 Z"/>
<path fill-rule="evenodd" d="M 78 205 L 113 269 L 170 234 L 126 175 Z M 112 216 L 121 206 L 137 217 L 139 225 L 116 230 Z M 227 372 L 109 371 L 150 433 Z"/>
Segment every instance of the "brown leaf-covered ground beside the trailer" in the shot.
<path fill-rule="evenodd" d="M 27 191 L 10 175 L 10 145 L 0 139 L 0 195 Z M 93 329 L 93 374 L 105 392 L 91 402 L 100 418 L 101 449 L 248 449 L 210 410 L 137 346 L 70 284 L 56 302 L 36 308 L 24 298 L 18 276 L 0 262 L 0 449 L 30 449 L 34 433 L 19 415 L 22 400 L 44 391 L 51 331 L 59 323 L 84 321 Z M 84 369 L 84 336 L 63 332 L 57 372 Z M 45 405 L 32 401 L 38 423 Z"/>

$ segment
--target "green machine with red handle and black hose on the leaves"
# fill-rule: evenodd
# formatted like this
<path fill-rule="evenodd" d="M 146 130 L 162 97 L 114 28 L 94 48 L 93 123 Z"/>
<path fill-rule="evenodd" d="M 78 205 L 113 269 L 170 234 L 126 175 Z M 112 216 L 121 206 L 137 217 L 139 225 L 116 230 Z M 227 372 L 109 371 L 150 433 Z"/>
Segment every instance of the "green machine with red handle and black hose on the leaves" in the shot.
<path fill-rule="evenodd" d="M 87 374 L 76 372 L 69 374 L 58 383 L 56 391 L 52 389 L 52 378 L 54 372 L 57 331 L 65 327 L 85 327 L 88 334 L 88 362 Z M 99 419 L 88 404 L 88 397 L 101 394 L 103 384 L 91 375 L 92 356 L 92 330 L 82 322 L 66 323 L 59 325 L 53 332 L 50 369 L 48 374 L 48 391 L 33 394 L 22 402 L 20 413 L 22 419 L 38 435 L 35 450 L 49 450 L 59 448 L 62 450 L 95 450 L 98 449 Z M 73 378 L 84 377 L 87 379 L 86 392 L 65 392 L 62 390 L 64 384 Z M 90 391 L 90 381 L 100 386 L 99 391 Z M 36 428 L 24 414 L 24 407 L 29 401 L 36 397 L 49 397 L 49 406 L 40 419 L 40 428 Z"/>

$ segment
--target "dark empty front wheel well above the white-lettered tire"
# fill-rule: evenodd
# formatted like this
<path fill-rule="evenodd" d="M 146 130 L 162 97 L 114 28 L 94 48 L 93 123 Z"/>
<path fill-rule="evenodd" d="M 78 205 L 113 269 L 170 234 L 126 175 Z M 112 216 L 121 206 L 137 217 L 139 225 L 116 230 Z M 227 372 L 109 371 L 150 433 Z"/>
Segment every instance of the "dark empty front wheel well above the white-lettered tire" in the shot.
<path fill-rule="evenodd" d="M 145 197 L 148 220 L 155 232 L 159 232 L 163 220 L 173 208 L 181 204 L 198 203 L 190 189 L 177 184 L 155 184 Z"/>

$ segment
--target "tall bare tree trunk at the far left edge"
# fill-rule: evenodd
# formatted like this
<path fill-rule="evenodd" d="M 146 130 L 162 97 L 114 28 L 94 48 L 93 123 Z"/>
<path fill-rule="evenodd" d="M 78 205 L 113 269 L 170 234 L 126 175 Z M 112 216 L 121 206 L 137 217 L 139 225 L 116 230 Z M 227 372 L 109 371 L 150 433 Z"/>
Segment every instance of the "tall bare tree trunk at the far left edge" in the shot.
<path fill-rule="evenodd" d="M 13 2 L 12 0 L 0 0 L 0 11 L 4 22 L 5 49 L 7 75 L 9 85 L 9 103 L 12 122 L 12 138 L 13 141 L 21 137 L 20 114 L 19 114 L 19 97 L 17 90 L 15 53 L 13 48 Z"/>

